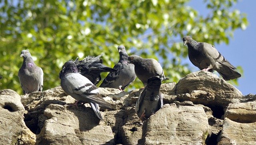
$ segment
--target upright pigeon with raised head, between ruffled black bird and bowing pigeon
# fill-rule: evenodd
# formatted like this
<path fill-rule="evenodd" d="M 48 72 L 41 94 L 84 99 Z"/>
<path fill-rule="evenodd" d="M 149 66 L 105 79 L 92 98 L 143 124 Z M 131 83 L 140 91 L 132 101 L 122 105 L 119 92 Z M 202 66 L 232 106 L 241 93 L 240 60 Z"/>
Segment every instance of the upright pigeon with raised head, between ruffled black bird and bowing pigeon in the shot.
<path fill-rule="evenodd" d="M 102 81 L 100 87 L 110 87 L 124 90 L 135 79 L 134 64 L 128 64 L 128 54 L 124 46 L 118 46 L 119 61 L 114 66 L 117 72 L 108 73 L 107 77 Z"/>

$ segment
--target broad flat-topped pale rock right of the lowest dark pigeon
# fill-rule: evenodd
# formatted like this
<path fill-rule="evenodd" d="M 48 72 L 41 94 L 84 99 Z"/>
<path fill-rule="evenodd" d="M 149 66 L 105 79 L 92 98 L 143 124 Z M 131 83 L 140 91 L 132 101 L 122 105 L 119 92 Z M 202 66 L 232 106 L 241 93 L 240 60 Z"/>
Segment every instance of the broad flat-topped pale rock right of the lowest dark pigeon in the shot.
<path fill-rule="evenodd" d="M 208 130 L 203 107 L 164 105 L 143 127 L 141 144 L 204 144 Z"/>

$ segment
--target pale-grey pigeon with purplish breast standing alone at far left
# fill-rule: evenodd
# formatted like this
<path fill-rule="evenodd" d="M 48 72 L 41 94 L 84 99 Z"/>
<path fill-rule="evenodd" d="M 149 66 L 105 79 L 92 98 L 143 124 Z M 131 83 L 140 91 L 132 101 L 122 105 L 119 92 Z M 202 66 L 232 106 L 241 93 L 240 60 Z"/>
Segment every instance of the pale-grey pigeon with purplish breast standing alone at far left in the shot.
<path fill-rule="evenodd" d="M 36 66 L 28 50 L 22 50 L 20 57 L 23 57 L 23 63 L 18 72 L 18 77 L 24 95 L 34 91 L 42 91 L 44 85 L 42 68 Z"/>

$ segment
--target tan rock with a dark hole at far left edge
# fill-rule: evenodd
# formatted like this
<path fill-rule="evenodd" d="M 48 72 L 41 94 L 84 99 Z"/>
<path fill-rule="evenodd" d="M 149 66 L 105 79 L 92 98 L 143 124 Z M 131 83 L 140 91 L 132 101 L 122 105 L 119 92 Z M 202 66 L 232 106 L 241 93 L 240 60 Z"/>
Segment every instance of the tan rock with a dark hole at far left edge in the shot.
<path fill-rule="evenodd" d="M 36 135 L 26 127 L 20 95 L 11 89 L 0 91 L 0 143 L 34 145 Z"/>

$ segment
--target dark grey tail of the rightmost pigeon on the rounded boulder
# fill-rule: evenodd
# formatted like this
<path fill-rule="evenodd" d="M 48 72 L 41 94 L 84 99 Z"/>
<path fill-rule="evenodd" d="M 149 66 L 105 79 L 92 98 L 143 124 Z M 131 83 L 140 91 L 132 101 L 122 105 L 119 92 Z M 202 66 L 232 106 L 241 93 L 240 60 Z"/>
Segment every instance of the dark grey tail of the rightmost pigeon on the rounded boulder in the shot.
<path fill-rule="evenodd" d="M 218 73 L 223 77 L 224 80 L 236 79 L 241 77 L 241 74 L 229 67 L 224 67 L 222 70 L 218 70 Z"/>

